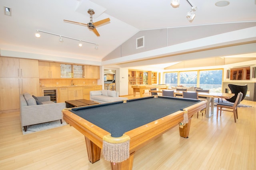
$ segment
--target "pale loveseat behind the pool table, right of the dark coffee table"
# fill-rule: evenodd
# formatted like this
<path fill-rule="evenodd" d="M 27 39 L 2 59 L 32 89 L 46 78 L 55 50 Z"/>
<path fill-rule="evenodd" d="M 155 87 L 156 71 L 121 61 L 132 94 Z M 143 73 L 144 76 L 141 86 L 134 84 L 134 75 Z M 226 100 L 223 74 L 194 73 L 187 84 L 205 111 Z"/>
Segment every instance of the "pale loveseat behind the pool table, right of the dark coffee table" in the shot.
<path fill-rule="evenodd" d="M 97 90 L 90 91 L 90 100 L 99 103 L 117 102 L 122 100 L 128 100 L 127 98 L 119 97 L 119 92 L 116 90 Z"/>

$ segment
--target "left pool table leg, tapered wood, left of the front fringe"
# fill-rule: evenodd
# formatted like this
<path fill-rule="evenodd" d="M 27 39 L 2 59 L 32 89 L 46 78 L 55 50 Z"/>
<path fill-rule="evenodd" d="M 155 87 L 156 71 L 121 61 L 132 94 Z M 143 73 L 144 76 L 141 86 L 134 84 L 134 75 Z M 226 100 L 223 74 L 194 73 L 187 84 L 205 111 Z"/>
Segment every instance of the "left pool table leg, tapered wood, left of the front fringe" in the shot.
<path fill-rule="evenodd" d="M 100 147 L 95 145 L 92 141 L 90 141 L 88 138 L 85 138 L 85 143 L 86 143 L 86 149 L 88 153 L 88 159 L 89 161 L 93 164 L 94 162 L 97 162 L 100 160 Z"/>

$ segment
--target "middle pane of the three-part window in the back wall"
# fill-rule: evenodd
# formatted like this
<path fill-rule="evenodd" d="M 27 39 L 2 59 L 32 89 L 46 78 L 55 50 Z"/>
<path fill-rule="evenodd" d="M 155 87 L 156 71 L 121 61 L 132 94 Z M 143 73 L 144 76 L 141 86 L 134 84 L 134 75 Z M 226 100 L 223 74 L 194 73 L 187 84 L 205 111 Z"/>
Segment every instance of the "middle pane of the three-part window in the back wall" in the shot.
<path fill-rule="evenodd" d="M 197 71 L 180 72 L 180 85 L 193 86 L 197 84 Z"/>

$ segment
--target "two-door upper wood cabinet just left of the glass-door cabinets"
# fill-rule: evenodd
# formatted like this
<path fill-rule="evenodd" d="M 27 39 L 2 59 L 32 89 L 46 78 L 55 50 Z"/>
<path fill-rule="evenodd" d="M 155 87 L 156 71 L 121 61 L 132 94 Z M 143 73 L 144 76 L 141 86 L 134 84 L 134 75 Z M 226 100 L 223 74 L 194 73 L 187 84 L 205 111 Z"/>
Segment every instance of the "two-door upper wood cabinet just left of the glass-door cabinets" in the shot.
<path fill-rule="evenodd" d="M 60 63 L 39 61 L 39 78 L 60 78 Z"/>

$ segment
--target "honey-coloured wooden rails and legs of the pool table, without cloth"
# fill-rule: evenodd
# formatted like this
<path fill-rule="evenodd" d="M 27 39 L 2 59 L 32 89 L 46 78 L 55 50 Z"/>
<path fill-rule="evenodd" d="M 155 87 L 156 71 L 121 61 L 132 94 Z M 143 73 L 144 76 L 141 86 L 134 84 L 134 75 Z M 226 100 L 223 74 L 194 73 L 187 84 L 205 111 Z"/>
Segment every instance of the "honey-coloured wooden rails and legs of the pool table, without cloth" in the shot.
<path fill-rule="evenodd" d="M 181 137 L 188 138 L 192 116 L 194 113 L 197 113 L 205 107 L 206 102 L 202 101 L 185 108 L 188 110 L 189 122 L 183 128 L 180 128 Z M 64 120 L 85 136 L 88 159 L 90 162 L 94 163 L 100 160 L 100 152 L 103 145 L 102 139 L 105 135 L 108 135 L 109 132 L 68 110 L 64 110 L 62 112 Z M 146 125 L 126 132 L 125 134 L 130 136 L 130 158 L 123 162 L 110 162 L 112 170 L 132 170 L 133 154 L 136 150 L 144 147 L 166 131 L 176 127 L 183 120 L 183 115 L 184 111 L 176 111 L 175 113 L 167 115 L 161 119 L 157 119 L 147 123 Z"/>

